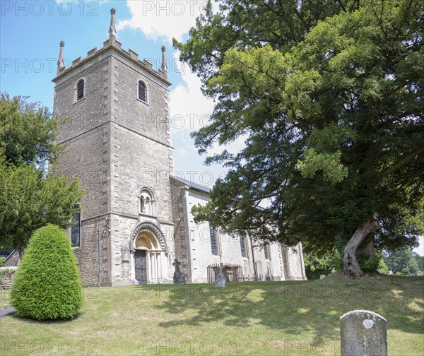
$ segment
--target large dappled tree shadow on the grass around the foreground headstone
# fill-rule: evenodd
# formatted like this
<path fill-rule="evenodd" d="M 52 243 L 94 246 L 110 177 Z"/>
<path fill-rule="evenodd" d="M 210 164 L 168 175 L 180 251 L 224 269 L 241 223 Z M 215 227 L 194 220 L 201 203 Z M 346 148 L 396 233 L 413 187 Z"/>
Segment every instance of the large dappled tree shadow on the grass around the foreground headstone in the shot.
<path fill-rule="evenodd" d="M 139 285 L 146 295 L 160 299 L 155 308 L 178 319 L 159 326 L 201 326 L 219 322 L 247 328 L 261 324 L 284 336 L 311 345 L 339 340 L 339 318 L 355 309 L 384 316 L 388 327 L 423 333 L 424 278 L 360 278 L 312 281 L 211 284 Z M 312 338 L 311 338 L 312 337 Z"/>

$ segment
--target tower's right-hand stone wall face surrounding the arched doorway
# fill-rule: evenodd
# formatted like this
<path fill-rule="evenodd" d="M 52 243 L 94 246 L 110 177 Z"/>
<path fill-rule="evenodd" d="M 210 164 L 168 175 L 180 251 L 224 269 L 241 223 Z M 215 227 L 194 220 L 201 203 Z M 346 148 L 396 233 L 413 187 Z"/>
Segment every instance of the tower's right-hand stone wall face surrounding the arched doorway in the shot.
<path fill-rule="evenodd" d="M 110 136 L 110 199 L 112 216 L 112 283 L 134 283 L 134 254 L 122 261 L 139 223 L 158 226 L 167 239 L 167 279 L 172 280 L 174 255 L 169 175 L 173 168 L 170 146 L 167 84 L 142 67 L 115 54 L 112 57 L 112 126 Z M 138 81 L 148 88 L 148 102 L 138 99 Z M 142 214 L 139 192 L 153 192 L 155 213 Z"/>

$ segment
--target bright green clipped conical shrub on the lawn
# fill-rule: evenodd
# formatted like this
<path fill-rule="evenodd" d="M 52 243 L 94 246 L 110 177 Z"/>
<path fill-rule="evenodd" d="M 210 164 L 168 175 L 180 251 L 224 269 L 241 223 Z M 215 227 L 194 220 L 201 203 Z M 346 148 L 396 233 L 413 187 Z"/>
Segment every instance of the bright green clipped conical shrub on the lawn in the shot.
<path fill-rule="evenodd" d="M 69 319 L 82 304 L 82 285 L 71 242 L 56 225 L 36 230 L 11 289 L 16 314 L 33 319 Z"/>

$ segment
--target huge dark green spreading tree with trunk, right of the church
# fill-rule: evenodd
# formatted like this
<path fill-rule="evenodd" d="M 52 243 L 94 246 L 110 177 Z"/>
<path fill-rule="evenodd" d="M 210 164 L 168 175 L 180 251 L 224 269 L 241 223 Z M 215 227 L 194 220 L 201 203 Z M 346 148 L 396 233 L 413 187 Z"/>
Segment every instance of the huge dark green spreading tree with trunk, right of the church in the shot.
<path fill-rule="evenodd" d="M 316 251 L 412 247 L 423 209 L 424 2 L 245 1 L 208 6 L 174 45 L 215 100 L 193 136 L 229 168 L 196 220 Z M 266 208 L 258 209 L 260 203 Z M 422 233 L 422 232 L 421 232 Z"/>

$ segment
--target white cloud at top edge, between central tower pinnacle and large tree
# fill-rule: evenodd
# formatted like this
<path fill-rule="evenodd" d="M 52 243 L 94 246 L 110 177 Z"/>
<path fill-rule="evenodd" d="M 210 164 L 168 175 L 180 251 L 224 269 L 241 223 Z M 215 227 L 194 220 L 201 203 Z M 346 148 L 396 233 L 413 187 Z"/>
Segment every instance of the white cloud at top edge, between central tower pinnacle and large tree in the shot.
<path fill-rule="evenodd" d="M 172 37 L 182 40 L 182 36 L 194 26 L 195 18 L 204 12 L 206 3 L 204 0 L 126 1 L 131 18 L 119 21 L 117 30 L 141 30 L 153 40 L 160 37 L 168 42 L 172 41 Z"/>

